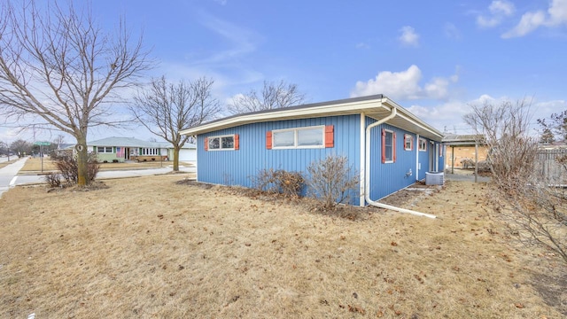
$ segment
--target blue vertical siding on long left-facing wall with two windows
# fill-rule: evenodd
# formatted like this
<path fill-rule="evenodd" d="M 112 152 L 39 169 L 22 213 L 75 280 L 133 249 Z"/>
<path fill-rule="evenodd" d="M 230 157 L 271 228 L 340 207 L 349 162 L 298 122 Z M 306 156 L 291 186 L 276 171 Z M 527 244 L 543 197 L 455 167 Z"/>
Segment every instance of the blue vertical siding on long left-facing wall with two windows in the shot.
<path fill-rule="evenodd" d="M 266 149 L 266 132 L 283 128 L 319 125 L 334 126 L 334 147 L 317 149 Z M 307 166 L 327 155 L 345 155 L 353 174 L 360 171 L 360 116 L 332 116 L 292 121 L 270 121 L 226 128 L 199 135 L 197 138 L 198 181 L 252 187 L 252 177 L 261 169 L 307 171 Z M 239 135 L 237 151 L 205 151 L 208 136 Z M 202 163 L 206 163 L 203 165 Z M 358 205 L 358 190 L 352 194 L 352 204 Z"/>

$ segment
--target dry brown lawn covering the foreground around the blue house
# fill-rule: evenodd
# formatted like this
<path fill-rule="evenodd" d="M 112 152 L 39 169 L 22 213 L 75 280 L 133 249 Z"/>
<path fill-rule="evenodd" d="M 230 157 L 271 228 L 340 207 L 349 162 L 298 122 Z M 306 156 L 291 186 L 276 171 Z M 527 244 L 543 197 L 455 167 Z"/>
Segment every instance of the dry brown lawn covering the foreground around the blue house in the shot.
<path fill-rule="evenodd" d="M 564 264 L 516 245 L 484 208 L 483 183 L 389 198 L 435 220 L 371 208 L 322 214 L 179 175 L 104 183 L 4 193 L 0 317 L 567 314 Z"/>

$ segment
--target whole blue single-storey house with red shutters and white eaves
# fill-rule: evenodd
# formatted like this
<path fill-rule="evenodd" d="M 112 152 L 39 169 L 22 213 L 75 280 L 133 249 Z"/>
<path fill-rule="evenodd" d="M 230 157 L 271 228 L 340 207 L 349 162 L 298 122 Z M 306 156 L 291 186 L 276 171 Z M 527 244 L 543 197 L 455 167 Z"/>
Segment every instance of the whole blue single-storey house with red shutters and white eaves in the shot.
<path fill-rule="evenodd" d="M 252 187 L 274 168 L 305 172 L 346 155 L 360 174 L 351 204 L 366 206 L 444 167 L 443 135 L 383 95 L 243 113 L 180 132 L 197 136 L 198 182 Z"/>

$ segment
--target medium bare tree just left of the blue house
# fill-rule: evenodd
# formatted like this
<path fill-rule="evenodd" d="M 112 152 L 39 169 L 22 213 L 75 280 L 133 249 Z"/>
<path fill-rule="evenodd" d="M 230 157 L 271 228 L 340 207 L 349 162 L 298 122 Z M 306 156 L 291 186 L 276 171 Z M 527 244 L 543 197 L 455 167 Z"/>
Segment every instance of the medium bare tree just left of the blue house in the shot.
<path fill-rule="evenodd" d="M 190 139 L 179 131 L 212 120 L 221 110 L 211 94 L 213 83 L 203 77 L 174 84 L 162 76 L 153 79 L 149 89 L 138 92 L 134 104 L 128 106 L 145 128 L 173 144 L 175 172 L 179 171 L 179 152 Z"/>

